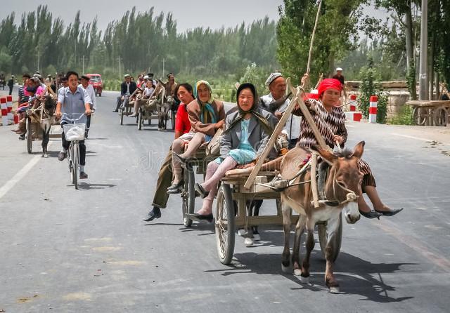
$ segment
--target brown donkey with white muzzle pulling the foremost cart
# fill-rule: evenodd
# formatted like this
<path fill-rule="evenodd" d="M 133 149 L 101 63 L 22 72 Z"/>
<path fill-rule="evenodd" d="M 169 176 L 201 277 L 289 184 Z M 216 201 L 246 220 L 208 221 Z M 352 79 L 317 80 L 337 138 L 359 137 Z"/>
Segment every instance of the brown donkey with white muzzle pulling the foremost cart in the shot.
<path fill-rule="evenodd" d="M 323 202 L 319 208 L 312 204 L 311 172 L 302 173 L 295 182 L 306 182 L 301 185 L 293 185 L 281 192 L 281 206 L 283 211 L 284 250 L 281 266 L 283 272 L 288 272 L 292 262 L 294 274 L 300 275 L 302 283 L 309 283 L 309 258 L 314 248 L 314 225 L 319 221 L 328 223 L 328 239 L 326 243 L 326 274 L 325 284 L 331 293 L 339 292 L 339 284 L 333 274 L 333 255 L 338 251 L 335 246 L 335 237 L 340 225 L 340 214 L 343 211 L 345 219 L 349 224 L 357 222 L 360 218 L 357 194 L 361 191 L 361 180 L 363 174 L 359 171 L 358 161 L 364 152 L 364 141 L 359 142 L 353 151 L 345 149 L 342 152 L 330 152 L 321 148 L 312 148 L 319 153 L 323 161 L 329 166 L 328 176 L 324 183 L 323 194 L 327 202 Z M 304 160 L 307 152 L 295 147 L 285 155 L 281 163 L 281 177 L 290 179 L 299 171 L 299 160 Z M 314 174 L 315 175 L 315 174 Z M 299 220 L 295 226 L 295 239 L 292 260 L 290 260 L 289 237 L 291 227 L 292 211 L 299 213 Z M 300 265 L 300 237 L 307 229 L 306 248 L 307 252 Z"/>

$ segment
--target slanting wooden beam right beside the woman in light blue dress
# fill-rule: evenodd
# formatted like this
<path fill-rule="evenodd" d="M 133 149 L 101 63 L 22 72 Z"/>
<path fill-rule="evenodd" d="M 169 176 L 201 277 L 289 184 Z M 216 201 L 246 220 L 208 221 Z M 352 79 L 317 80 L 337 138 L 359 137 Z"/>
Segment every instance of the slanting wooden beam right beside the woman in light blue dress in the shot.
<path fill-rule="evenodd" d="M 286 79 L 286 83 L 290 84 L 290 78 Z M 290 114 L 293 112 L 295 103 L 297 102 L 296 99 L 298 97 L 300 97 L 300 91 L 297 91 L 297 93 L 295 93 L 294 100 L 292 102 L 290 102 L 288 107 L 285 109 L 283 116 L 281 116 L 280 121 L 278 121 L 278 124 L 276 124 L 274 133 L 272 133 L 272 135 L 270 136 L 269 142 L 267 142 L 267 145 L 266 145 L 264 151 L 262 152 L 261 156 L 259 156 L 259 159 L 258 159 L 257 163 L 255 164 L 255 168 L 253 168 L 252 173 L 250 173 L 250 175 L 248 176 L 247 182 L 245 182 L 245 185 L 244 185 L 245 188 L 250 189 L 250 187 L 252 186 L 253 180 L 255 180 L 255 177 L 258 174 L 259 169 L 261 169 L 262 164 L 264 164 L 266 157 L 269 156 L 269 152 L 274 147 L 274 144 L 275 144 L 276 140 L 278 139 L 278 135 L 281 133 L 281 131 L 283 131 L 286 121 L 288 121 Z"/>

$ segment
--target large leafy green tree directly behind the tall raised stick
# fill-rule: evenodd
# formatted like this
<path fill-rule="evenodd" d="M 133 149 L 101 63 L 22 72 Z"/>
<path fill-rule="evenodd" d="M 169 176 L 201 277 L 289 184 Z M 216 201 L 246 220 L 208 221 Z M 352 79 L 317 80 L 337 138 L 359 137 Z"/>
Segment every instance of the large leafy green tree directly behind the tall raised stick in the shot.
<path fill-rule="evenodd" d="M 297 79 L 306 72 L 311 33 L 319 0 L 285 0 L 279 8 L 278 61 L 288 76 Z M 354 50 L 361 4 L 366 0 L 322 0 L 313 48 L 311 74 L 332 74 L 335 60 Z"/>

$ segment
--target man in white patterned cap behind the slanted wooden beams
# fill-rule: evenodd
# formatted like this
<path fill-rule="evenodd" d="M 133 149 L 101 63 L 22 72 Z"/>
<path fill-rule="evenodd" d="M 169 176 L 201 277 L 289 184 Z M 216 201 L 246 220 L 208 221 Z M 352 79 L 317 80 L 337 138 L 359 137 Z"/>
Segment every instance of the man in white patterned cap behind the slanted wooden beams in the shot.
<path fill-rule="evenodd" d="M 290 100 L 289 95 L 286 95 L 286 80 L 281 73 L 272 73 L 266 80 L 266 86 L 269 88 L 270 93 L 263 95 L 261 105 L 264 109 L 272 112 L 278 119 L 281 119 L 283 112 L 288 107 Z M 299 116 L 290 115 L 288 121 L 286 121 L 284 131 L 288 133 L 289 149 L 293 148 L 298 140 L 300 134 L 300 121 Z"/>

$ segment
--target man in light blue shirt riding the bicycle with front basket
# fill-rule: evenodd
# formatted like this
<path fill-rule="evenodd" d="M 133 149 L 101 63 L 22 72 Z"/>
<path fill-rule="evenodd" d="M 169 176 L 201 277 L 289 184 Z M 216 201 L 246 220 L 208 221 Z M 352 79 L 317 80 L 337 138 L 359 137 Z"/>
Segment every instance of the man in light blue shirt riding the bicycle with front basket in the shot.
<path fill-rule="evenodd" d="M 68 87 L 63 88 L 58 94 L 58 104 L 56 105 L 56 116 L 60 117 L 62 113 L 72 115 L 72 114 L 86 114 L 88 116 L 93 111 L 91 111 L 92 100 L 86 93 L 84 88 L 78 86 L 78 74 L 77 72 L 69 71 L 66 74 L 68 79 Z M 81 119 L 79 123 L 86 124 L 86 116 Z M 61 120 L 61 127 L 64 124 L 69 124 L 65 116 Z M 68 148 L 70 146 L 70 141 L 65 139 L 63 132 L 63 149 L 58 154 L 58 160 L 63 161 L 68 154 Z M 84 140 L 79 142 L 79 179 L 86 179 L 87 174 L 84 172 L 84 165 L 86 164 L 86 145 L 84 145 Z"/>

